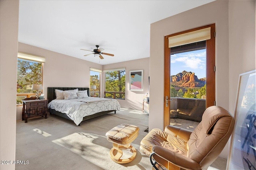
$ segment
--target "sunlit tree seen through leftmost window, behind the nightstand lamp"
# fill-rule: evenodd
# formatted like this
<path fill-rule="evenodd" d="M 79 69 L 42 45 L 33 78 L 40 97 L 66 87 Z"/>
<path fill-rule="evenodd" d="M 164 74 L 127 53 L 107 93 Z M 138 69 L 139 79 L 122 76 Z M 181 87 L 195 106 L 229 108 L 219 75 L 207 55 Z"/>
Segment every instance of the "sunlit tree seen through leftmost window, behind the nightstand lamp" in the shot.
<path fill-rule="evenodd" d="M 31 93 L 32 84 L 42 84 L 42 63 L 18 59 L 17 93 Z"/>

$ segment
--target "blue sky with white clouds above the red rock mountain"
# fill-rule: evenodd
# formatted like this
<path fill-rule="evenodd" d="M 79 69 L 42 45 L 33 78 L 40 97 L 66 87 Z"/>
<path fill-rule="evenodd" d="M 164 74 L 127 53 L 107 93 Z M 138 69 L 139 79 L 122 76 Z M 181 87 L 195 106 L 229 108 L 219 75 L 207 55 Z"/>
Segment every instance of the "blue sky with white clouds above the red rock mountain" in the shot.
<path fill-rule="evenodd" d="M 171 55 L 171 75 L 184 70 L 194 72 L 197 78 L 206 77 L 206 49 Z"/>

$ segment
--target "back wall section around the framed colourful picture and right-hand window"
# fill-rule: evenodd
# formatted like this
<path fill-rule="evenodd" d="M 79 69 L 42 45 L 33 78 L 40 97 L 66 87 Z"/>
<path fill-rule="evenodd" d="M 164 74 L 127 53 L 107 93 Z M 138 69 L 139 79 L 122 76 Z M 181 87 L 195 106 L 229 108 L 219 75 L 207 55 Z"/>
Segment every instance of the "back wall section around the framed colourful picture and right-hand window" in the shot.
<path fill-rule="evenodd" d="M 132 60 L 132 61 L 125 61 L 121 63 L 114 63 L 114 64 L 106 64 L 103 66 L 103 70 L 108 70 L 112 68 L 126 68 L 126 88 L 125 88 L 125 100 L 118 100 L 121 107 L 130 108 L 130 109 L 138 109 L 142 110 L 142 101 L 143 96 L 146 93 L 149 94 L 149 58 Z M 143 91 L 130 91 L 129 90 L 129 81 L 130 70 L 143 70 Z M 104 74 L 103 74 L 104 76 Z M 105 82 L 104 82 L 105 83 Z M 102 92 L 104 92 L 104 86 L 102 86 Z M 150 95 L 150 94 L 149 94 Z M 147 105 L 144 105 L 145 109 Z"/>

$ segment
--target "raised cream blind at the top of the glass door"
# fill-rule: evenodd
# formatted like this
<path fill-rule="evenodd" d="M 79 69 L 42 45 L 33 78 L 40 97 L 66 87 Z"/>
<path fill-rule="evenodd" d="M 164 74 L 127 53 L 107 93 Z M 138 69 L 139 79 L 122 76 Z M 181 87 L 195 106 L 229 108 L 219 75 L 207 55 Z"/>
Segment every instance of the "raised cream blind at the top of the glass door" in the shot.
<path fill-rule="evenodd" d="M 211 39 L 211 27 L 168 37 L 169 48 Z"/>

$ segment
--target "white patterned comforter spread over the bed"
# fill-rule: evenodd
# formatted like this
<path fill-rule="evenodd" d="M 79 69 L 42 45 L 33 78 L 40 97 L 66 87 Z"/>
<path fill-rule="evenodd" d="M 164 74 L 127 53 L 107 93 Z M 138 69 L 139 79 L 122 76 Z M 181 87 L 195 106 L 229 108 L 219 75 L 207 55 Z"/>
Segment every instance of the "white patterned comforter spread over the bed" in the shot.
<path fill-rule="evenodd" d="M 89 97 L 70 100 L 55 99 L 48 104 L 48 108 L 66 113 L 76 125 L 79 125 L 84 116 L 101 111 L 120 110 L 120 104 L 115 99 Z"/>

